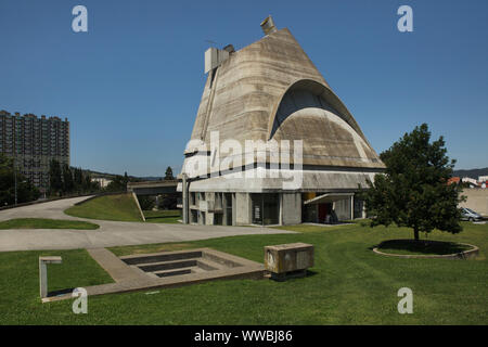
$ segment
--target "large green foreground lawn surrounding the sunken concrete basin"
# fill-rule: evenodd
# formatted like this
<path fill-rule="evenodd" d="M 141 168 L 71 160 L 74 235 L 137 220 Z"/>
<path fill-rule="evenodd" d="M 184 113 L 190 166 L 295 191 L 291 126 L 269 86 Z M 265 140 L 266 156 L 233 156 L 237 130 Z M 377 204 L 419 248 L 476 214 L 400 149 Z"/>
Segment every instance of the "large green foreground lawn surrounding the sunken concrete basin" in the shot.
<path fill-rule="evenodd" d="M 303 233 L 116 247 L 112 250 L 117 255 L 213 247 L 262 262 L 266 245 L 305 242 L 316 246 L 316 265 L 307 278 L 286 282 L 216 281 L 90 297 L 88 314 L 72 313 L 72 300 L 39 303 L 39 252 L 0 253 L 0 277 L 9 279 L 0 282 L 0 324 L 487 324 L 488 224 L 463 226 L 458 235 L 434 232 L 428 239 L 475 244 L 480 249 L 476 259 L 383 257 L 372 247 L 411 237 L 412 232 L 360 224 L 298 226 L 286 229 Z M 42 254 L 63 256 L 63 265 L 49 267 L 54 288 L 110 281 L 84 250 Z M 397 311 L 397 292 L 404 286 L 413 291 L 413 314 Z"/>

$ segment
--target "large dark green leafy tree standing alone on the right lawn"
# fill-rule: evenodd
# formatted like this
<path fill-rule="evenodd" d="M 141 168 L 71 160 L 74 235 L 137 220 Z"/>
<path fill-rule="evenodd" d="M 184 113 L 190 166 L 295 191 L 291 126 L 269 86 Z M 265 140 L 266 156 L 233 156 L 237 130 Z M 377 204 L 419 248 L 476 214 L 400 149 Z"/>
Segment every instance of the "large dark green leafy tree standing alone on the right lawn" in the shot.
<path fill-rule="evenodd" d="M 431 132 L 423 124 L 381 154 L 386 170 L 375 176 L 374 183 L 369 181 L 370 189 L 361 194 L 373 216 L 371 227 L 396 223 L 412 228 L 415 241 L 419 232 L 434 229 L 462 231 L 458 209 L 464 200 L 459 195 L 461 188 L 447 184 L 455 160 L 446 155 L 442 137 L 429 140 Z"/>

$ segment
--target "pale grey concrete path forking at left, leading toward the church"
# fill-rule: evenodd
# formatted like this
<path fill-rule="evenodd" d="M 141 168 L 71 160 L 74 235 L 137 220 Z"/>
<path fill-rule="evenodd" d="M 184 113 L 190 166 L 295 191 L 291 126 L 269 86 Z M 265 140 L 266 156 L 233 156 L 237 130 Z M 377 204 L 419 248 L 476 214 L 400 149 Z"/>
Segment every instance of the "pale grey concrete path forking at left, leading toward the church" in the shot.
<path fill-rule="evenodd" d="M 70 217 L 64 214 L 66 208 L 88 197 L 65 198 L 0 210 L 0 221 L 12 218 L 51 218 L 86 220 L 100 226 L 98 230 L 0 230 L 0 252 L 101 248 L 150 243 L 185 242 L 232 235 L 293 233 L 292 231 L 259 227 L 163 224 L 95 220 Z"/>

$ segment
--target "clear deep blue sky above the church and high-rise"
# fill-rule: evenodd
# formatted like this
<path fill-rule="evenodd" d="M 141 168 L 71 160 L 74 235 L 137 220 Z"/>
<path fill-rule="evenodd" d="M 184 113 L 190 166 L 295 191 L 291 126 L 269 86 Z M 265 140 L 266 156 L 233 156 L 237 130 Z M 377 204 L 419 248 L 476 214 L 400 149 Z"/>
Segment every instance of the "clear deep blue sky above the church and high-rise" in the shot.
<path fill-rule="evenodd" d="M 88 9 L 88 33 L 72 9 Z M 413 33 L 397 9 L 413 9 Z M 271 14 L 381 153 L 427 123 L 457 168 L 488 166 L 488 1 L 0 0 L 0 110 L 68 117 L 72 165 L 179 171 L 209 43 L 239 50 Z"/>

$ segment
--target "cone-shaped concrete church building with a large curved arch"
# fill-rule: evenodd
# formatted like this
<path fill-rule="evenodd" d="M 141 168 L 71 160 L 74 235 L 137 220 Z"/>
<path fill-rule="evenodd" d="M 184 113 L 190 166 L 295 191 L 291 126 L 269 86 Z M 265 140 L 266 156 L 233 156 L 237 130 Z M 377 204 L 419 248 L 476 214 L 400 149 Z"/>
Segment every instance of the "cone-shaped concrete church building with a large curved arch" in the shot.
<path fill-rule="evenodd" d="M 183 221 L 294 224 L 363 217 L 355 193 L 384 164 L 290 30 L 278 30 L 271 17 L 261 28 L 265 37 L 239 51 L 229 44 L 205 53 L 208 77 L 179 176 Z M 213 147 L 216 134 L 220 145 L 240 143 L 251 160 L 232 162 L 222 170 L 231 152 Z M 248 140 L 288 140 L 291 165 L 282 165 L 284 157 L 271 151 L 249 153 Z M 295 140 L 303 141 L 299 165 Z M 300 184 L 286 187 L 286 178 L 262 177 L 259 169 L 278 176 L 299 170 Z"/>

